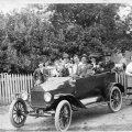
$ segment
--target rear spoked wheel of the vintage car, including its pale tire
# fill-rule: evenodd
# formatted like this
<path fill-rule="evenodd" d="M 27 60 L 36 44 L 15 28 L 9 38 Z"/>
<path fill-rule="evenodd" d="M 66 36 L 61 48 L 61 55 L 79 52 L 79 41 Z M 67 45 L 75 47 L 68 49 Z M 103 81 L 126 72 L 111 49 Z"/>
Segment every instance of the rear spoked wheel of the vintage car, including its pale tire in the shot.
<path fill-rule="evenodd" d="M 117 112 L 121 109 L 122 106 L 122 95 L 121 90 L 118 87 L 113 87 L 110 92 L 110 102 L 108 103 L 112 112 Z"/>

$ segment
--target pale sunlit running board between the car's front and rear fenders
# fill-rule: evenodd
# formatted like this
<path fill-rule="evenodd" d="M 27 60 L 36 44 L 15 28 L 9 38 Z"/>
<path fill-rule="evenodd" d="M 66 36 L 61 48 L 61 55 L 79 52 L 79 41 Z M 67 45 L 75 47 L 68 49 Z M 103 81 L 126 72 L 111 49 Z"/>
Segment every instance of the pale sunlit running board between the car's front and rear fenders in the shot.
<path fill-rule="evenodd" d="M 80 102 L 81 102 L 84 106 L 91 105 L 91 103 L 95 103 L 95 102 L 100 102 L 100 101 L 103 101 L 103 98 L 102 98 L 101 96 L 91 97 L 91 98 L 87 98 L 87 99 L 81 99 L 81 100 L 80 100 Z"/>

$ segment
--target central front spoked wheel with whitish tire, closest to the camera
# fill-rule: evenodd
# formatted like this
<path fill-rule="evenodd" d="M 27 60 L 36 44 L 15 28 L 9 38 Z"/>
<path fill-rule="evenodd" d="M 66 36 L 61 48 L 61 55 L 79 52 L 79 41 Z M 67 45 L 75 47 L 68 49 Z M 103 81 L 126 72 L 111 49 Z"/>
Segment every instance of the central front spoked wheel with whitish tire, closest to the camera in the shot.
<path fill-rule="evenodd" d="M 57 131 L 65 132 L 72 122 L 72 107 L 68 101 L 63 100 L 58 103 L 55 113 L 55 127 Z"/>

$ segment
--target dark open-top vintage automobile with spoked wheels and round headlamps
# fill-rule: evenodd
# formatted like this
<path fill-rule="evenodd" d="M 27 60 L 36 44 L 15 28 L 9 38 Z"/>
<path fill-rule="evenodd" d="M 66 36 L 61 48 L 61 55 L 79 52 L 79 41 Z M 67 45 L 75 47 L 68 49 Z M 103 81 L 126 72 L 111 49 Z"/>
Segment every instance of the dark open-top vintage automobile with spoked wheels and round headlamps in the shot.
<path fill-rule="evenodd" d="M 10 106 L 10 121 L 15 128 L 24 124 L 26 116 L 53 116 L 57 131 L 67 131 L 72 113 L 107 103 L 112 112 L 122 106 L 124 87 L 116 81 L 116 73 L 102 73 L 77 78 L 51 77 L 28 94 L 15 94 Z M 28 110 L 28 106 L 33 109 Z"/>

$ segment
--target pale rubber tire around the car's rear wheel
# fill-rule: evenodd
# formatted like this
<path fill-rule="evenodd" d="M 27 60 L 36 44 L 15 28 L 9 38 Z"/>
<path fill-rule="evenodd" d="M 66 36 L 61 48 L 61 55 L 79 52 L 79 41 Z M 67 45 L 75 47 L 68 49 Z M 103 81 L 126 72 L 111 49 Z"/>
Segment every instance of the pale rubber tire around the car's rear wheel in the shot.
<path fill-rule="evenodd" d="M 111 110 L 111 112 L 118 112 L 118 111 L 121 109 L 121 107 L 122 107 L 122 95 L 121 95 L 121 90 L 120 90 L 117 86 L 112 87 L 112 89 L 111 89 L 111 91 L 110 91 L 110 99 L 111 99 L 111 94 L 112 94 L 113 90 L 116 90 L 116 89 L 118 89 L 118 91 L 119 91 L 119 94 L 120 94 L 121 102 L 120 102 L 120 107 L 119 107 L 117 110 L 112 108 L 111 101 L 108 102 L 108 107 L 109 107 L 109 109 Z"/>

